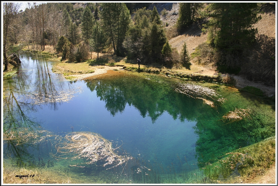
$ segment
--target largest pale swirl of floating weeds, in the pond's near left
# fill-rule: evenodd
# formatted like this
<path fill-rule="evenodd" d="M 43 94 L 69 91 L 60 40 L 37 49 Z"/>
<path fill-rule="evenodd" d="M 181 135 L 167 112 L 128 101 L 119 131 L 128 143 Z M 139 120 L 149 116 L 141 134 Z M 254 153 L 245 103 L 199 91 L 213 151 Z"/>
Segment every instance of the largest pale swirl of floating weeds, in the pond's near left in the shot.
<path fill-rule="evenodd" d="M 118 155 L 114 152 L 115 149 L 112 148 L 110 141 L 92 132 L 69 133 L 56 144 L 56 149 L 61 153 L 59 158 L 86 159 L 86 164 L 103 162 L 101 166 L 112 165 L 109 168 L 122 165 L 131 158 Z"/>

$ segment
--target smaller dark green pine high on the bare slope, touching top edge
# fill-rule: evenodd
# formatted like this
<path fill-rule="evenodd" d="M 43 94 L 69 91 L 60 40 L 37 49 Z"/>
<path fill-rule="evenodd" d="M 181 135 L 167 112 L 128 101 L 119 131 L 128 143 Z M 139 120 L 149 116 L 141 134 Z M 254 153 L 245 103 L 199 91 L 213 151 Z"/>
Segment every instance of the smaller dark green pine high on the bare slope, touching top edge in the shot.
<path fill-rule="evenodd" d="M 180 3 L 179 18 L 176 26 L 179 33 L 182 33 L 184 29 L 191 25 L 195 21 L 195 17 L 200 8 L 203 8 L 204 3 Z"/>

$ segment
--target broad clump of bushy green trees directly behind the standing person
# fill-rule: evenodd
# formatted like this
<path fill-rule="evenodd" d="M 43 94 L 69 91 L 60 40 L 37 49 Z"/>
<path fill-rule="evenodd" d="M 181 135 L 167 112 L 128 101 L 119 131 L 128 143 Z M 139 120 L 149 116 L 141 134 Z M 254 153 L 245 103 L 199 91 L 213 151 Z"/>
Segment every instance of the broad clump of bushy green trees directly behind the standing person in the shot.
<path fill-rule="evenodd" d="M 135 25 L 127 32 L 123 46 L 128 51 L 128 59 L 137 59 L 152 62 L 160 62 L 161 51 L 166 42 L 166 36 L 162 26 L 157 24 L 158 14 L 156 8 L 153 11 L 142 8 L 134 15 Z M 160 20 L 160 19 L 159 19 Z M 158 23 L 160 23 L 158 21 Z"/>

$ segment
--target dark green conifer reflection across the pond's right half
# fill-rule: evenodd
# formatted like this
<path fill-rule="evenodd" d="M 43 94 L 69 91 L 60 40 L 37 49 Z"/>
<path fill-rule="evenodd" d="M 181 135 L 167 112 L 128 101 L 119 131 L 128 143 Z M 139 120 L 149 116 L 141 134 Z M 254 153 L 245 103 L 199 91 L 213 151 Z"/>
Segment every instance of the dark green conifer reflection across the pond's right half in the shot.
<path fill-rule="evenodd" d="M 125 72 L 110 72 L 110 75 L 88 79 L 86 82 L 88 88 L 96 90 L 100 100 L 105 101 L 105 107 L 112 116 L 124 112 L 127 105 L 132 105 L 142 117 L 149 116 L 153 123 L 164 112 L 169 113 L 174 120 L 195 121 L 193 129 L 198 139 L 194 151 L 199 167 L 217 161 L 227 152 L 275 134 L 275 120 L 264 117 L 265 123 L 262 123 L 261 115 L 256 112 L 242 120 L 223 120 L 223 116 L 233 110 L 252 107 L 253 103 L 243 98 L 239 101 L 236 94 L 229 95 L 229 101 L 224 103 L 217 101 L 221 105 L 213 109 L 200 99 L 173 91 L 176 83 L 157 75 L 140 78 Z M 240 109 L 235 109 L 236 106 Z M 192 152 L 192 149 L 188 150 Z M 169 161 L 178 162 L 177 157 L 169 157 Z"/>

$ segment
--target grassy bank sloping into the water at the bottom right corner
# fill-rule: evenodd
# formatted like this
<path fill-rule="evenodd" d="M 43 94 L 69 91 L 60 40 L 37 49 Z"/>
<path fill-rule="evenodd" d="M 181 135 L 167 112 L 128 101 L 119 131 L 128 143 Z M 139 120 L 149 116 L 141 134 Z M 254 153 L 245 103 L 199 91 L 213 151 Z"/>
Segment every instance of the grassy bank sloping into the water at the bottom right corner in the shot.
<path fill-rule="evenodd" d="M 275 136 L 227 153 L 219 161 L 206 165 L 203 170 L 207 178 L 221 183 L 264 183 L 263 176 L 273 166 Z M 252 181 L 256 177 L 261 179 Z"/>

